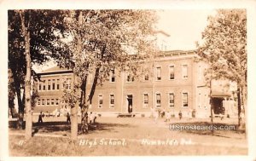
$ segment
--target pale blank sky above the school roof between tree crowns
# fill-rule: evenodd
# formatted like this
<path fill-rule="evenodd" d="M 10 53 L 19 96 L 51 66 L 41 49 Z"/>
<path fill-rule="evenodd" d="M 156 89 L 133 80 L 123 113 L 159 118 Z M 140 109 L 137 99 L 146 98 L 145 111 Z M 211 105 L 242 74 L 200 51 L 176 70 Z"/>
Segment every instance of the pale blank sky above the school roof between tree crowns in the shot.
<path fill-rule="evenodd" d="M 201 32 L 207 26 L 207 17 L 213 15 L 211 9 L 172 9 L 159 10 L 159 30 L 170 35 L 168 50 L 195 49 L 195 42 L 201 40 Z"/>

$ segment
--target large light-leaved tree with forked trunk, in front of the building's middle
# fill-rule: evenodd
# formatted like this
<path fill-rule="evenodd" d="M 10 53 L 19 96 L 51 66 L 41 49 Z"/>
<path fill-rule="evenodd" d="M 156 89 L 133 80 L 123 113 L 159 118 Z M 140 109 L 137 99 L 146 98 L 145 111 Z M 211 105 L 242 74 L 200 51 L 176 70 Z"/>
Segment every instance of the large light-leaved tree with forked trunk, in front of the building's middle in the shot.
<path fill-rule="evenodd" d="M 83 131 L 87 124 L 84 118 L 96 85 L 108 78 L 113 69 L 135 73 L 135 66 L 139 63 L 137 59 L 152 51 L 152 41 L 148 36 L 154 33 L 155 18 L 149 10 L 69 10 L 66 15 L 66 32 L 56 42 L 65 53 L 53 56 L 60 66 L 73 70 L 76 87 L 80 89 Z M 87 78 L 91 73 L 94 73 L 94 80 L 91 90 L 86 91 Z M 76 108 L 73 106 L 72 113 L 77 111 Z M 76 120 L 77 114 L 71 117 Z M 75 140 L 77 131 L 72 131 L 72 134 Z"/>

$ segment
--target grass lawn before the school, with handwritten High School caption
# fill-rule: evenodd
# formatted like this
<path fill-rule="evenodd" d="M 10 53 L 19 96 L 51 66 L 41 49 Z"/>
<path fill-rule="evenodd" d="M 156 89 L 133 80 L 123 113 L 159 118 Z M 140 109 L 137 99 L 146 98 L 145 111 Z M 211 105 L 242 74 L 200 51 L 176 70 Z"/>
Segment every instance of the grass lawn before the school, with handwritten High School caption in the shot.
<path fill-rule="evenodd" d="M 170 130 L 162 119 L 154 123 L 153 118 L 98 118 L 96 129 L 79 135 L 78 141 L 70 141 L 70 125 L 64 121 L 65 118 L 44 118 L 44 124 L 33 125 L 34 137 L 25 142 L 24 130 L 9 129 L 9 155 L 247 155 L 245 134 L 236 130 L 218 130 L 211 135 L 210 130 Z M 207 125 L 208 122 L 207 119 L 171 120 L 172 124 Z M 235 124 L 232 120 L 215 122 Z"/>

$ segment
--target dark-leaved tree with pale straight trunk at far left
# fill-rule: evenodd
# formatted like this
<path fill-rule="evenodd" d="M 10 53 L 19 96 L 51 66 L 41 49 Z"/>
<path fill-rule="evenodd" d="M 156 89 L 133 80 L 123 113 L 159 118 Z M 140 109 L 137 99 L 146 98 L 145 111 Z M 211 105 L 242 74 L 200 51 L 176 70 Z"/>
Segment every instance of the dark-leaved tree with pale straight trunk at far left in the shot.
<path fill-rule="evenodd" d="M 58 10 L 9 10 L 9 69 L 19 104 L 19 120 L 23 122 L 26 107 L 26 139 L 32 135 L 31 78 L 37 79 L 32 64 L 42 64 L 49 53 L 57 52 L 52 43 L 54 29 L 61 31 Z M 24 90 L 21 96 L 21 89 Z M 25 105 L 25 106 L 24 106 Z"/>

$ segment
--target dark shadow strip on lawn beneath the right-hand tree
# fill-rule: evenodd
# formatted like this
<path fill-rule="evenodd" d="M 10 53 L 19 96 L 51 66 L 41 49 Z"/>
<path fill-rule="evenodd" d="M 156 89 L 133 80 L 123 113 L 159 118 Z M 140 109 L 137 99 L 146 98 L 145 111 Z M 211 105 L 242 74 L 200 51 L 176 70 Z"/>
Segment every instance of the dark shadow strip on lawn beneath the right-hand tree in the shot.
<path fill-rule="evenodd" d="M 175 126 L 176 124 L 170 124 Z M 179 123 L 180 127 L 188 127 L 191 129 L 183 129 L 181 132 L 196 134 L 196 135 L 212 135 L 212 124 L 209 122 L 191 122 L 191 123 Z M 201 129 L 195 129 L 201 128 Z M 233 135 L 245 134 L 245 129 L 238 129 L 237 124 L 213 124 L 213 135 L 225 138 L 233 138 Z M 194 128 L 194 129 L 192 129 Z M 208 128 L 208 129 L 207 129 Z M 222 128 L 222 129 L 221 129 Z M 229 129 L 223 129 L 229 128 Z"/>

